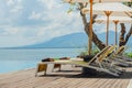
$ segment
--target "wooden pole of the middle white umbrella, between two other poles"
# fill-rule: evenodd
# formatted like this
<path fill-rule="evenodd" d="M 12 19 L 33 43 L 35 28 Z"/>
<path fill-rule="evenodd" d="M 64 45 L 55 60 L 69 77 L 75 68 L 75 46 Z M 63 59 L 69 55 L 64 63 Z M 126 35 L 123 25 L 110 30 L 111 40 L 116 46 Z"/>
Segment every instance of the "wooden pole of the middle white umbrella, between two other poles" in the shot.
<path fill-rule="evenodd" d="M 109 38 L 109 19 L 110 19 L 110 14 L 112 13 L 112 11 L 105 11 L 106 15 L 107 15 L 107 34 L 106 34 L 106 45 L 108 46 L 108 38 Z"/>

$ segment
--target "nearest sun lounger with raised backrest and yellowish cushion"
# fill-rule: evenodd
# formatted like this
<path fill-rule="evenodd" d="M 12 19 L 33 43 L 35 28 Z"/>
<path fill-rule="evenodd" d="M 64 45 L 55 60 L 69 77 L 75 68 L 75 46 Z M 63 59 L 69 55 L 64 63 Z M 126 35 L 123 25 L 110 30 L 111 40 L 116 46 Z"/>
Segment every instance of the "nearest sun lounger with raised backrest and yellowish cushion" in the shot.
<path fill-rule="evenodd" d="M 119 72 L 110 67 L 103 67 L 102 61 L 109 56 L 109 54 L 114 51 L 116 46 L 107 46 L 100 53 L 98 53 L 90 62 L 77 61 L 77 59 L 65 59 L 65 61 L 54 61 L 54 62 L 43 62 L 44 64 L 70 64 L 70 65 L 78 65 L 81 67 L 88 67 L 91 69 L 96 69 L 98 72 L 103 72 L 113 76 L 119 76 Z M 111 50 L 111 52 L 109 52 Z M 112 66 L 111 66 L 112 67 Z"/>

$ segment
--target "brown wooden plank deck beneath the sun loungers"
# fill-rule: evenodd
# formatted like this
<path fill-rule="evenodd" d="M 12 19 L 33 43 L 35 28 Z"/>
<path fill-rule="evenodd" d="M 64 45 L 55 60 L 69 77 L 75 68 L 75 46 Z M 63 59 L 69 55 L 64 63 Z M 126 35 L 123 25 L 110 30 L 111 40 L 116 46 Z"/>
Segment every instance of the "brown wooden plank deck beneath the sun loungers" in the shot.
<path fill-rule="evenodd" d="M 132 88 L 132 68 L 121 77 L 105 74 L 84 77 L 81 67 L 63 66 L 62 72 L 41 73 L 35 77 L 35 69 L 20 70 L 0 75 L 0 88 Z"/>

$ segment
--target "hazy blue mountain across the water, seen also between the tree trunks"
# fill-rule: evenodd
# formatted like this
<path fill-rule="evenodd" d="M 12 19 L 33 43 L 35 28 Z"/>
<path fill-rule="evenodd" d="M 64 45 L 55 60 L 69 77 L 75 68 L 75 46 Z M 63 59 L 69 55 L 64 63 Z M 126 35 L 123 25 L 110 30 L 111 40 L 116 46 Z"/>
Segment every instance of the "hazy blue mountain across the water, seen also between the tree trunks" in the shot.
<path fill-rule="evenodd" d="M 97 36 L 106 43 L 106 33 L 97 34 Z M 53 47 L 85 47 L 88 44 L 88 37 L 86 33 L 73 33 L 67 34 L 58 37 L 54 37 L 47 42 L 33 44 L 33 45 L 26 45 L 22 47 L 15 47 L 15 48 L 53 48 Z M 114 32 L 109 32 L 109 44 L 114 44 Z M 132 45 L 132 37 L 130 37 L 128 45 Z M 14 48 L 14 47 L 13 47 Z"/>

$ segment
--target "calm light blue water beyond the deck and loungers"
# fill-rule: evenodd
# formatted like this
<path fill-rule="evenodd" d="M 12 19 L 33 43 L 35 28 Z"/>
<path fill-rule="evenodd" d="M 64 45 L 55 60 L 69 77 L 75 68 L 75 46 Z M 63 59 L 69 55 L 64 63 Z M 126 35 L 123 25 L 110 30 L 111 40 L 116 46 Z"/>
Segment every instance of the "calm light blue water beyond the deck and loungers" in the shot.
<path fill-rule="evenodd" d="M 36 67 L 46 57 L 76 57 L 84 48 L 0 50 L 0 74 Z"/>

